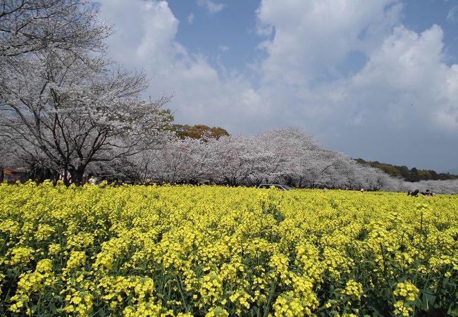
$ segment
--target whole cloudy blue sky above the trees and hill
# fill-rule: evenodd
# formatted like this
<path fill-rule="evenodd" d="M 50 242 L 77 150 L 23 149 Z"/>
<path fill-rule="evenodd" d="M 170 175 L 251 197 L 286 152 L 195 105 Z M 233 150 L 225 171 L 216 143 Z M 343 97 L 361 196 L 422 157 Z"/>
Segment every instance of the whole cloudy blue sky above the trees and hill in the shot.
<path fill-rule="evenodd" d="M 458 167 L 458 0 L 97 0 L 109 56 L 180 124 L 302 128 L 325 149 Z"/>

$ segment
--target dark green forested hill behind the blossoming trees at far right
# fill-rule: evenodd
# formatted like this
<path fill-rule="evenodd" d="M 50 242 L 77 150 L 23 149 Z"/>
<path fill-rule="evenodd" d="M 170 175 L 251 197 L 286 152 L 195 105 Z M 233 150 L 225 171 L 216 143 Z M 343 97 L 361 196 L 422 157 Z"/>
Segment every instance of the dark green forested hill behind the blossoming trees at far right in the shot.
<path fill-rule="evenodd" d="M 407 166 L 396 166 L 388 163 L 380 163 L 378 161 L 364 161 L 364 159 L 356 159 L 355 161 L 362 165 L 379 168 L 388 175 L 395 178 L 402 178 L 407 182 L 419 182 L 420 180 L 458 180 L 458 175 L 438 173 L 435 170 L 409 169 Z"/>

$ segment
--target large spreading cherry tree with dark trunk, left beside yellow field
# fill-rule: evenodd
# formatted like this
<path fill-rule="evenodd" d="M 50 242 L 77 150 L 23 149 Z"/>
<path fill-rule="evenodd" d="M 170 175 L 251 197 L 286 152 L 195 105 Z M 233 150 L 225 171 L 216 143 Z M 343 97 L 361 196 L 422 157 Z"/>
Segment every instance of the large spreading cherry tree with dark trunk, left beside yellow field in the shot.
<path fill-rule="evenodd" d="M 103 59 L 75 58 L 66 51 L 35 55 L 0 75 L 1 115 L 27 156 L 44 154 L 73 182 L 81 182 L 92 161 L 151 147 L 171 120 L 161 108 L 169 97 L 137 98 L 145 85 L 142 73 L 106 72 Z"/>

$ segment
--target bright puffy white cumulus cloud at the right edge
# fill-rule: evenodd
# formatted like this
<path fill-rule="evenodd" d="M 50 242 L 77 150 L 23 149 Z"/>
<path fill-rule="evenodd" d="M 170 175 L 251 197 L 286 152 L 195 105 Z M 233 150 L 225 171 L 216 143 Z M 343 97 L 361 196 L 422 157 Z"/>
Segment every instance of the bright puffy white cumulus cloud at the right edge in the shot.
<path fill-rule="evenodd" d="M 421 35 L 397 27 L 347 82 L 348 101 L 369 125 L 458 131 L 458 66 L 444 63 L 442 38 L 437 25 Z"/>

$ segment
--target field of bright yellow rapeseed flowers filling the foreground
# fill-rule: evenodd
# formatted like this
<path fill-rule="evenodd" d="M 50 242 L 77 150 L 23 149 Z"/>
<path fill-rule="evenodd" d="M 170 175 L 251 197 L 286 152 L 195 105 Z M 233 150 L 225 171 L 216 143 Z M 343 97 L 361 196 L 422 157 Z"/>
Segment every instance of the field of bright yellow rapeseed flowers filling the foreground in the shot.
<path fill-rule="evenodd" d="M 458 313 L 458 198 L 0 185 L 0 315 Z"/>

